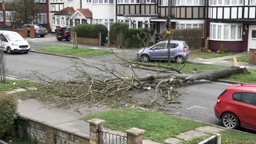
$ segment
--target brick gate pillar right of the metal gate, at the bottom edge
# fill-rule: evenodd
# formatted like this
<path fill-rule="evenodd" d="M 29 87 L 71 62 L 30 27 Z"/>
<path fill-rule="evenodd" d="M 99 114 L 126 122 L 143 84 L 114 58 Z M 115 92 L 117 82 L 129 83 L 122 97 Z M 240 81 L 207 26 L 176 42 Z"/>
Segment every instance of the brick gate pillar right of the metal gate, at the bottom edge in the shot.
<path fill-rule="evenodd" d="M 127 133 L 127 144 L 142 144 L 142 136 L 145 130 L 131 128 L 125 132 Z"/>

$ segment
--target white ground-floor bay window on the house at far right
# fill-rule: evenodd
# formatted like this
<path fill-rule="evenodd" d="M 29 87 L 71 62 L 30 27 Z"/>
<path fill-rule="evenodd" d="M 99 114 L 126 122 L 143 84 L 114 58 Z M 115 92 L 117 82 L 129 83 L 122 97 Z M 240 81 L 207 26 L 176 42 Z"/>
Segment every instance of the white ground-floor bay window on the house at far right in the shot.
<path fill-rule="evenodd" d="M 242 23 L 213 23 L 211 22 L 210 24 L 210 40 L 218 40 L 218 41 L 242 41 Z M 213 25 L 216 26 L 216 36 L 213 38 Z M 218 37 L 218 27 L 221 26 L 221 38 Z M 228 32 L 229 32 L 229 37 L 228 39 L 224 39 L 224 26 L 228 26 Z M 231 39 L 231 26 L 236 26 L 235 28 L 235 39 Z M 240 39 L 238 39 L 238 26 L 241 26 L 241 32 L 240 32 Z"/>

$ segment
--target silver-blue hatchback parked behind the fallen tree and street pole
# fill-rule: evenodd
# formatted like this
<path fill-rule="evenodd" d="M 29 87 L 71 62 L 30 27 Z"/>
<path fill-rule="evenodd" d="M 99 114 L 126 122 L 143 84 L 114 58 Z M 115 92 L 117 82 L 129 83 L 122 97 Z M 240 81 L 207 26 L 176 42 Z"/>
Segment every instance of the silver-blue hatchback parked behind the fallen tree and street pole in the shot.
<path fill-rule="evenodd" d="M 171 40 L 171 60 L 177 63 L 184 63 L 188 59 L 190 50 L 185 41 Z M 168 41 L 160 41 L 159 43 L 143 48 L 137 53 L 138 60 L 149 62 L 151 60 L 164 60 L 167 61 L 167 48 Z"/>

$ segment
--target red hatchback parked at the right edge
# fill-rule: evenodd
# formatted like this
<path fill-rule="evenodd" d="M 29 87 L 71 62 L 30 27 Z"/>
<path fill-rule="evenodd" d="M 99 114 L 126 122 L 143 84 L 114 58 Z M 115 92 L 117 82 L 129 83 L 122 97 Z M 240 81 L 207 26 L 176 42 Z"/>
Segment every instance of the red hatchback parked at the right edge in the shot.
<path fill-rule="evenodd" d="M 229 86 L 219 95 L 214 112 L 226 128 L 256 130 L 256 85 Z"/>

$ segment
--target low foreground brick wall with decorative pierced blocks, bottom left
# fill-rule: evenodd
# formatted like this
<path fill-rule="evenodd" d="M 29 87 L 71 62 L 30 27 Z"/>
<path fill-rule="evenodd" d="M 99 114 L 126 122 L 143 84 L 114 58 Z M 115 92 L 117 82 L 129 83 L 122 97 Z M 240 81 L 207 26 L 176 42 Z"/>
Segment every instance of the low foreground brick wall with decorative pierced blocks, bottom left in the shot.
<path fill-rule="evenodd" d="M 32 142 L 38 144 L 89 144 L 89 136 L 73 133 L 65 129 L 60 129 L 54 125 L 41 123 L 34 119 L 27 119 L 27 137 Z M 19 131 L 24 131 L 20 129 Z M 21 132 L 19 132 L 21 133 Z"/>

